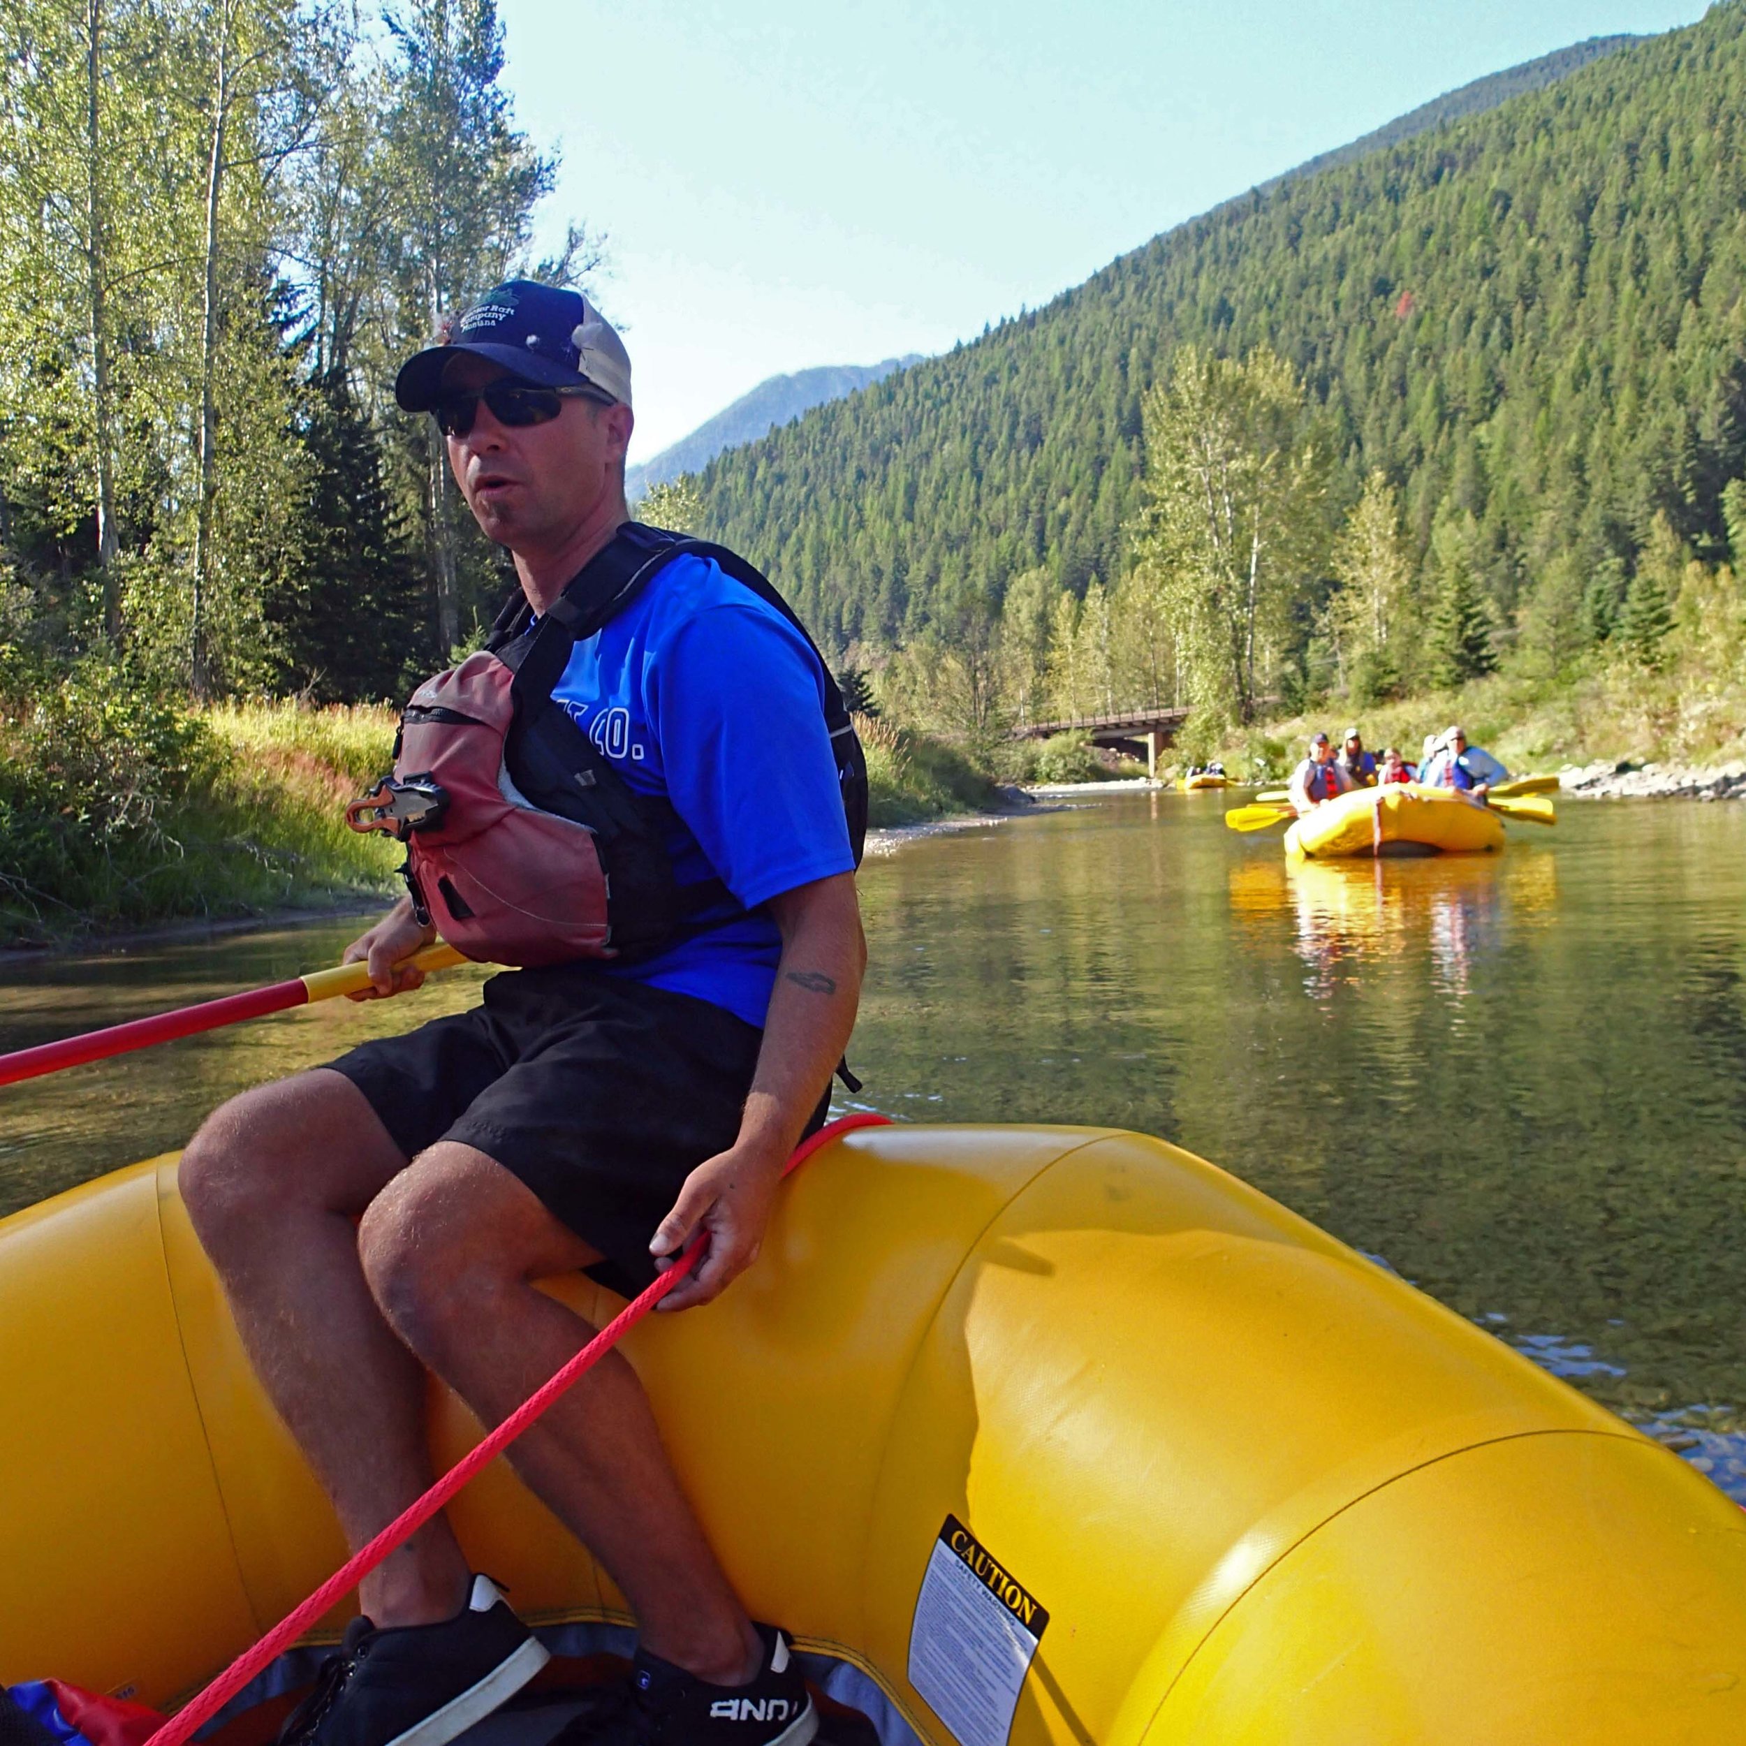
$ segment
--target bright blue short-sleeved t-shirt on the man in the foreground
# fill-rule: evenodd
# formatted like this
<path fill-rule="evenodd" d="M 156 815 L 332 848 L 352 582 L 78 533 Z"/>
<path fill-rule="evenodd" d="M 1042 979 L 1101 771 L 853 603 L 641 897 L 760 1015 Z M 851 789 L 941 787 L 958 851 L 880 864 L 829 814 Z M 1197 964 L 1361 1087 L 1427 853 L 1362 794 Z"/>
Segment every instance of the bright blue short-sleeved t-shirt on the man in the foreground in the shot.
<path fill-rule="evenodd" d="M 819 660 L 712 559 L 663 566 L 571 650 L 552 697 L 632 787 L 669 800 L 679 885 L 719 878 L 756 911 L 796 885 L 854 871 Z M 775 922 L 753 913 L 601 969 L 763 1027 L 780 950 Z"/>

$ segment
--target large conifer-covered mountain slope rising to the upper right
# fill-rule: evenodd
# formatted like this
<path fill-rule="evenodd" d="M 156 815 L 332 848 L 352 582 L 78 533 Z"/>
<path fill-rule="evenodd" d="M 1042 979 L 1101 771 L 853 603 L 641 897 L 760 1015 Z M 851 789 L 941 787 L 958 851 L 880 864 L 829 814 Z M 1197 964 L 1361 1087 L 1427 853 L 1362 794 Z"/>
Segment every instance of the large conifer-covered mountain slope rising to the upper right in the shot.
<path fill-rule="evenodd" d="M 1046 309 L 721 456 L 711 531 L 831 643 L 943 588 L 1124 562 L 1140 402 L 1184 342 L 1276 347 L 1337 491 L 1475 522 L 1500 622 L 1552 559 L 1598 620 L 1657 510 L 1720 550 L 1746 471 L 1746 5 L 1484 115 L 1234 201 Z M 1570 585 L 1570 574 L 1561 578 Z"/>

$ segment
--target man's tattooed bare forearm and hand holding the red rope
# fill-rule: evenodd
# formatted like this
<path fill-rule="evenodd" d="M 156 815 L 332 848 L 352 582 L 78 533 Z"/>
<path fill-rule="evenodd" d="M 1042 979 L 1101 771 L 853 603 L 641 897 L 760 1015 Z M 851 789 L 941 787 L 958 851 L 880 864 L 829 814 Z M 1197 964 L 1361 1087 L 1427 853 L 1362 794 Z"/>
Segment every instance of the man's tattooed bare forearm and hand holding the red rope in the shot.
<path fill-rule="evenodd" d="M 856 876 L 798 885 L 772 897 L 770 913 L 782 932 L 782 957 L 758 1072 L 739 1138 L 684 1179 L 650 1243 L 656 1264 L 667 1266 L 697 1231 L 709 1236 L 697 1271 L 662 1299 L 662 1310 L 709 1303 L 758 1259 L 782 1166 L 854 1030 L 868 959 Z"/>

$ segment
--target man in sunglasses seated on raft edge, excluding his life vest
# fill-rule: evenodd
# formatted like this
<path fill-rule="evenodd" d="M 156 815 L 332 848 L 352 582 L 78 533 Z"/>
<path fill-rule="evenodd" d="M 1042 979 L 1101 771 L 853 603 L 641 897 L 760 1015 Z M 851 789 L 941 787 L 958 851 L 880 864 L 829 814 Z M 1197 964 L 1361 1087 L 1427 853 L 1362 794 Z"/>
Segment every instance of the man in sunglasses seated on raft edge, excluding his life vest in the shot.
<path fill-rule="evenodd" d="M 402 368 L 396 396 L 435 414 L 540 629 L 567 625 L 622 541 L 670 541 L 629 520 L 630 360 L 576 292 L 487 292 Z M 709 1303 L 756 1259 L 782 1166 L 824 1117 L 866 964 L 849 772 L 821 702 L 840 693 L 798 623 L 723 559 L 660 560 L 564 644 L 541 700 L 625 794 L 663 808 L 681 897 L 716 880 L 714 904 L 648 955 L 508 971 L 468 1013 L 246 1091 L 183 1154 L 243 1343 L 354 1549 L 431 1482 L 426 1367 L 496 1425 L 594 1332 L 536 1280 L 587 1269 L 634 1292 L 702 1233 L 697 1273 L 660 1308 Z M 368 962 L 370 997 L 400 993 L 423 978 L 393 966 L 433 934 L 409 897 L 346 960 Z M 508 1458 L 639 1624 L 630 1683 L 571 1746 L 805 1746 L 817 1716 L 787 1638 L 742 1608 L 623 1357 Z M 360 1603 L 281 1741 L 443 1746 L 546 1660 L 443 1516 Z"/>

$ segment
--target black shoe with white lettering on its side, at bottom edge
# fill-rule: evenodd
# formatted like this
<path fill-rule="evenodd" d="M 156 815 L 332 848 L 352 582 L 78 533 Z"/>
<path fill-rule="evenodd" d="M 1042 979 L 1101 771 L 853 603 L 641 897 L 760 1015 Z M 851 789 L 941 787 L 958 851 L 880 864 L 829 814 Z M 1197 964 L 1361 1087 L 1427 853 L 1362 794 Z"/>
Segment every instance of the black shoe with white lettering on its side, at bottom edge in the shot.
<path fill-rule="evenodd" d="M 763 1666 L 749 1685 L 709 1685 L 637 1650 L 630 1681 L 585 1709 L 553 1746 L 807 1746 L 819 1713 L 787 1638 L 754 1626 Z"/>

